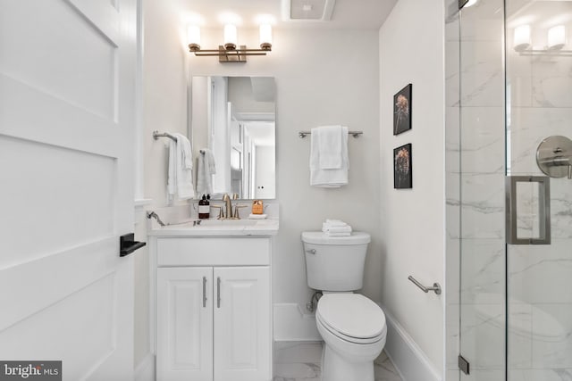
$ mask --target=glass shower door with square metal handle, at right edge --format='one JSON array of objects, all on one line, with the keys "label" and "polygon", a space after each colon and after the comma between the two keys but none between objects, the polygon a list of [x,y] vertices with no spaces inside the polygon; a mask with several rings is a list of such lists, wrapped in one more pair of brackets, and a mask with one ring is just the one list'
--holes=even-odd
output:
[{"label": "glass shower door with square metal handle, at right edge", "polygon": [[512,198],[519,242],[507,244],[510,381],[572,380],[570,31],[572,2],[506,0],[507,176],[550,186],[525,181]]}]

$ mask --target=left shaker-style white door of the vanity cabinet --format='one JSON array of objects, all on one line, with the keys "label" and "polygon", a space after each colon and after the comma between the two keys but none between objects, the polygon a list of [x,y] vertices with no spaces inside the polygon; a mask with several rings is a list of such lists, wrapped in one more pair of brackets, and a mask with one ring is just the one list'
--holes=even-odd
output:
[{"label": "left shaker-style white door of the vanity cabinet", "polygon": [[213,268],[156,273],[157,381],[213,379]]}]

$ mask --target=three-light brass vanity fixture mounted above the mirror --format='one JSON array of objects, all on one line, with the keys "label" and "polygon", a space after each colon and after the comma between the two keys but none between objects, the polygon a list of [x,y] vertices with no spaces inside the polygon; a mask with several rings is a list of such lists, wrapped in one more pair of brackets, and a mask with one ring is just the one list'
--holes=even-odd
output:
[{"label": "three-light brass vanity fixture mounted above the mirror", "polygon": [[247,62],[247,55],[266,55],[272,51],[272,26],[261,24],[259,32],[260,48],[248,49],[247,46],[239,46],[236,26],[226,24],[223,45],[218,46],[218,49],[201,49],[200,29],[198,26],[191,25],[188,29],[189,52],[199,57],[215,56],[218,57],[219,62]]}]

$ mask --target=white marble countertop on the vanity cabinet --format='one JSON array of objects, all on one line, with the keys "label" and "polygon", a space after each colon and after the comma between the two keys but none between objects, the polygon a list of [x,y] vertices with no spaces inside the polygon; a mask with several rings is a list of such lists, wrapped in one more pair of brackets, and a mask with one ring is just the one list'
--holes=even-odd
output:
[{"label": "white marble countertop on the vanity cabinet", "polygon": [[278,219],[193,219],[159,227],[153,224],[149,236],[275,236]]}]

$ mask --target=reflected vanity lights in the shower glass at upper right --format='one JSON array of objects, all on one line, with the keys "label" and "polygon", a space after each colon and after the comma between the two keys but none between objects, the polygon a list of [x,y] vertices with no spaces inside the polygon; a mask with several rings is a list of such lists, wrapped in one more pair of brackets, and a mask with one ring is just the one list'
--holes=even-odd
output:
[{"label": "reflected vanity lights in the shower glass at upper right", "polygon": [[566,27],[557,25],[548,29],[547,44],[543,49],[531,48],[530,25],[520,25],[514,29],[513,48],[520,55],[572,55],[572,50],[562,50],[566,46]]}]

